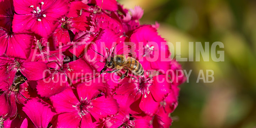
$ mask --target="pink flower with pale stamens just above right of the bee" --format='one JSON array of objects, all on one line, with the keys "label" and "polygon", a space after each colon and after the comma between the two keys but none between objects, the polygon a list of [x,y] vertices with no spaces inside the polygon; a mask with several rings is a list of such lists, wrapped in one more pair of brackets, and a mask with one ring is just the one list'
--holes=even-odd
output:
[{"label": "pink flower with pale stamens just above right of the bee", "polygon": [[[130,36],[130,41],[136,44],[137,50],[143,50],[143,52],[137,52],[137,58],[144,70],[162,69],[166,71],[169,69],[170,51],[168,45],[151,25],[137,28]],[[143,44],[139,42],[143,42]],[[149,44],[151,42],[152,44]]]}]

